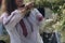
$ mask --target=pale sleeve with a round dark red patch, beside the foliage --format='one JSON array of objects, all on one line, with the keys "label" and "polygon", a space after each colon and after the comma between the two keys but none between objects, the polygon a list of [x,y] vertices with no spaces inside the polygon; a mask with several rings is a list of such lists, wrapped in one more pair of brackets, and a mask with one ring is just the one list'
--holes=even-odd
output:
[{"label": "pale sleeve with a round dark red patch, beside the foliage", "polygon": [[41,22],[43,20],[43,16],[37,9],[34,9],[34,13],[35,13],[37,26],[40,26]]}]

